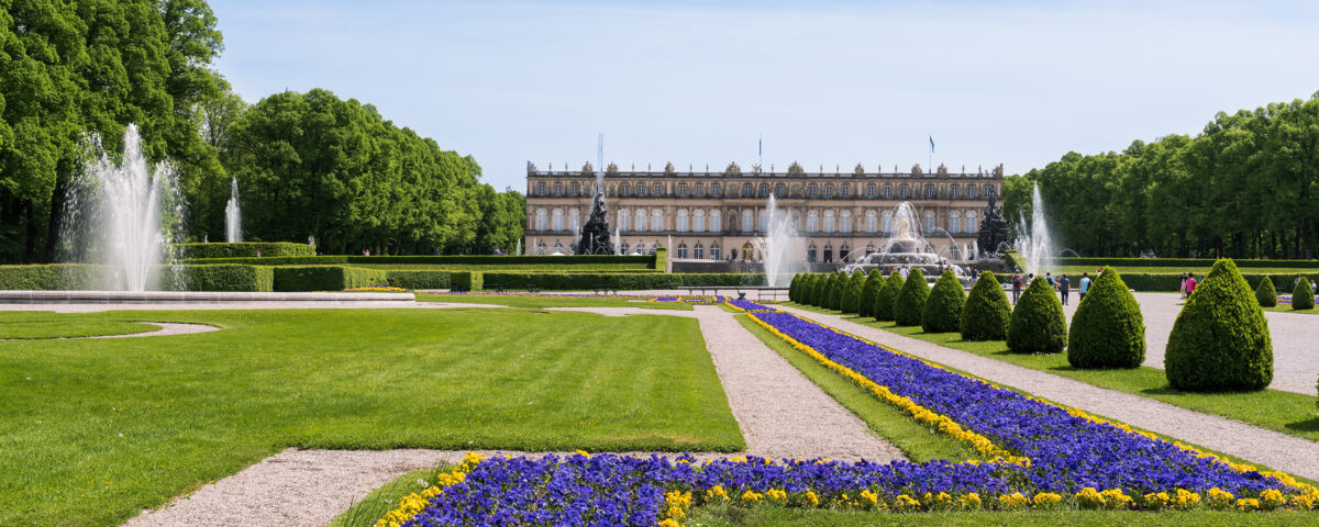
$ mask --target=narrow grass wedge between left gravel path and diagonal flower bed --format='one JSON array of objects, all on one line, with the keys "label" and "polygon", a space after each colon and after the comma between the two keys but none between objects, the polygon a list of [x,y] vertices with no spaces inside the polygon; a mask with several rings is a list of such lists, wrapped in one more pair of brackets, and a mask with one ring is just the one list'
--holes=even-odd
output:
[{"label": "narrow grass wedge between left gravel path and diagonal flower bed", "polygon": [[863,390],[838,373],[824,368],[814,358],[802,353],[756,324],[747,315],[739,315],[737,321],[760,337],[770,349],[797,366],[807,378],[834,397],[843,407],[856,414],[871,432],[893,443],[911,461],[930,460],[971,460],[980,456],[962,443],[935,432],[918,423],[898,408],[881,402],[873,394]]}]

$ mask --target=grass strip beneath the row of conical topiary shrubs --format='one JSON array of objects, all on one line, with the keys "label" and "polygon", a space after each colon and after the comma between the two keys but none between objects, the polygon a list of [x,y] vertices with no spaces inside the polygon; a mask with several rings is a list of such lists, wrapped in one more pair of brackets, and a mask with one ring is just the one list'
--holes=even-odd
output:
[{"label": "grass strip beneath the row of conical topiary shrubs", "polygon": [[[798,306],[815,312],[819,308]],[[852,321],[876,327],[888,332],[921,339],[927,343],[960,349],[992,357],[1018,366],[1049,372],[1099,387],[1148,397],[1169,404],[1241,420],[1257,427],[1319,441],[1319,414],[1315,412],[1315,397],[1281,390],[1253,393],[1192,394],[1169,387],[1163,370],[1141,366],[1132,370],[1083,370],[1067,364],[1064,353],[1058,354],[1017,354],[1009,353],[1004,341],[972,343],[962,340],[960,333],[926,333],[919,327],[897,327],[892,321],[869,321],[852,318]]]}]

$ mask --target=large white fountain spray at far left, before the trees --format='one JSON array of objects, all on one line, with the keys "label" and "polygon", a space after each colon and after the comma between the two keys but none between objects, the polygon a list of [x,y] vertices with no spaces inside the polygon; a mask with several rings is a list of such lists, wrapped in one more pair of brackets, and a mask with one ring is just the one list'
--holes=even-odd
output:
[{"label": "large white fountain spray at far left, before the trees", "polygon": [[[183,203],[169,162],[146,165],[136,125],[124,132],[116,163],[90,138],[92,159],[69,190],[61,244],[75,261],[100,264],[98,286],[117,291],[158,290],[171,242],[182,240]],[[178,281],[173,281],[178,283]]]}]

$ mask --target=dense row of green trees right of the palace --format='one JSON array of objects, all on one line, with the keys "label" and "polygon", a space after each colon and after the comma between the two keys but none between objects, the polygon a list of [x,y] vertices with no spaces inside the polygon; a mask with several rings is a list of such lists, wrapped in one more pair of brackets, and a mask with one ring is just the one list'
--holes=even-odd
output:
[{"label": "dense row of green trees right of the palace", "polygon": [[1039,184],[1060,246],[1083,256],[1319,256],[1319,94],[1220,112],[1195,136],[1062,159],[1004,183],[1008,217]]}]

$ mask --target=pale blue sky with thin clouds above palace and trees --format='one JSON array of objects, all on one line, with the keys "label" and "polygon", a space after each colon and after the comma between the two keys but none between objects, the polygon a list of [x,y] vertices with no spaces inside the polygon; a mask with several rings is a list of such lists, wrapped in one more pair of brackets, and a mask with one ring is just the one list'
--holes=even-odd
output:
[{"label": "pale blue sky with thin clouds above palace and trees", "polygon": [[211,0],[249,103],[321,87],[497,188],[605,159],[1004,163],[1199,132],[1319,91],[1319,3]]}]

